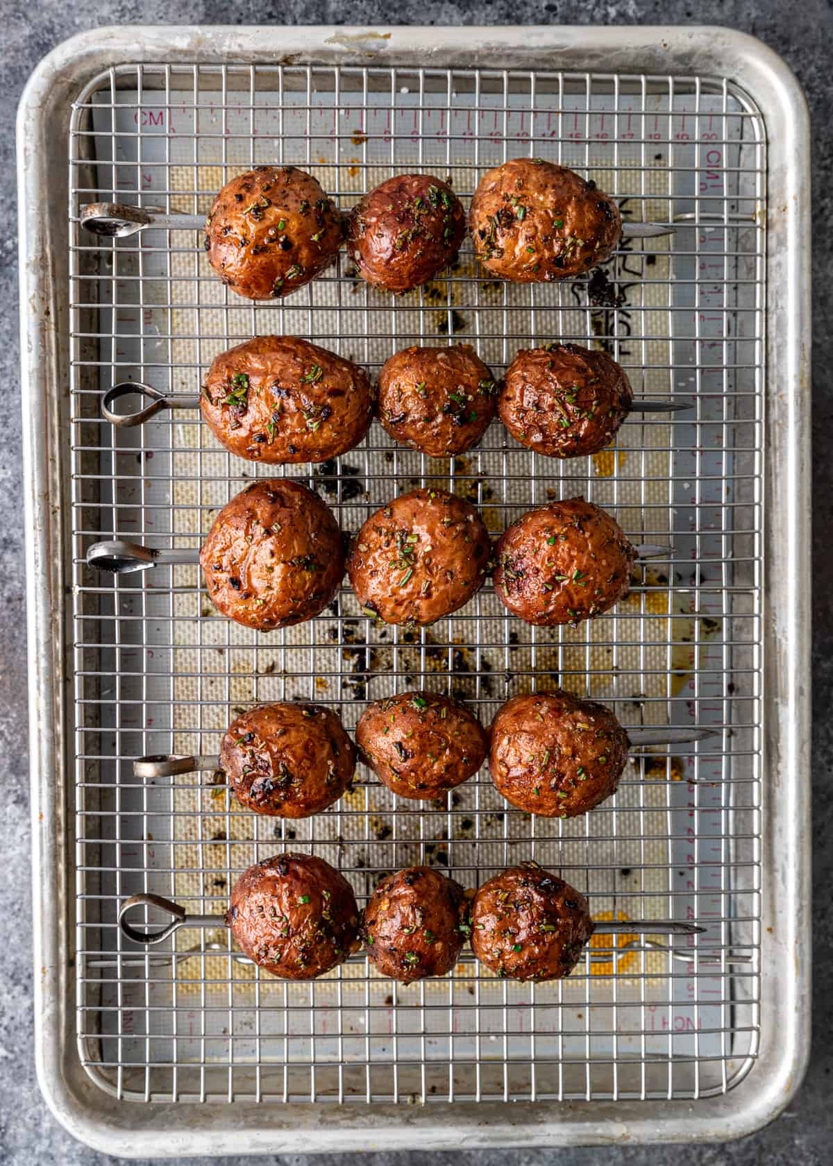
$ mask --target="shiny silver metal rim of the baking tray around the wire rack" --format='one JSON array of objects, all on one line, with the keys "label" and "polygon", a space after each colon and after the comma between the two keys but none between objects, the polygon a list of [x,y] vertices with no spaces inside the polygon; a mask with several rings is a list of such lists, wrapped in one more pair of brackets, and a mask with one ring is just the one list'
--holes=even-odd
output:
[{"label": "shiny silver metal rim of the baking tray around the wire rack", "polygon": [[[530,45],[534,44],[533,48]],[[72,1030],[71,673],[66,618],[68,466],[65,261],[70,103],[96,73],[142,62],[566,66],[603,73],[730,77],[758,105],[769,139],[764,546],[763,926],[758,1062],[728,1094],[696,1102],[454,1103],[356,1107],[254,1103],[136,1107],[84,1073]],[[810,1045],[810,166],[808,119],[788,66],[724,28],[164,28],[98,29],[58,45],[35,70],[18,121],[21,374],[27,529],[29,714],[35,921],[35,1056],[47,1103],[77,1138],[111,1154],[473,1149],[724,1140],[761,1128],[790,1101]],[[772,386],[778,386],[777,391]],[[415,1139],[419,1139],[418,1142]]]}]

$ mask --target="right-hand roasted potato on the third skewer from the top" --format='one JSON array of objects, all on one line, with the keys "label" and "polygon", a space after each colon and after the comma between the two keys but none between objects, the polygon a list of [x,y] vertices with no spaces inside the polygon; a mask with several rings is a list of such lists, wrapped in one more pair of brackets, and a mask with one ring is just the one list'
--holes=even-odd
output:
[{"label": "right-hand roasted potato on the third skewer from the top", "polygon": [[630,588],[636,550],[600,506],[568,498],[527,511],[495,548],[495,592],[527,624],[576,625]]}]

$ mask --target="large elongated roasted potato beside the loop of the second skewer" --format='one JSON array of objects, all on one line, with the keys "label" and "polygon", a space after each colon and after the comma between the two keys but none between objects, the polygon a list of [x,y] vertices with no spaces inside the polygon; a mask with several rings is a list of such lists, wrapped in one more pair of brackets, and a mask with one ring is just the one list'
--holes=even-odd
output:
[{"label": "large elongated roasted potato beside the loop of the second skewer", "polygon": [[200,396],[211,433],[268,465],[326,462],[362,441],[373,391],[352,360],[295,336],[256,336],[215,357]]}]

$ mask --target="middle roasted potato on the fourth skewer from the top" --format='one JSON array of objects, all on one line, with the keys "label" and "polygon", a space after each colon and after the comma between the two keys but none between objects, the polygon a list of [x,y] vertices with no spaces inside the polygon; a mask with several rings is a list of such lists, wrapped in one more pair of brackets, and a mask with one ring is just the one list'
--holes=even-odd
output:
[{"label": "middle roasted potato on the fourth skewer from the top", "polygon": [[489,747],[483,725],[457,701],[400,693],[368,705],[356,726],[362,757],[400,798],[442,798],[477,773]]}]

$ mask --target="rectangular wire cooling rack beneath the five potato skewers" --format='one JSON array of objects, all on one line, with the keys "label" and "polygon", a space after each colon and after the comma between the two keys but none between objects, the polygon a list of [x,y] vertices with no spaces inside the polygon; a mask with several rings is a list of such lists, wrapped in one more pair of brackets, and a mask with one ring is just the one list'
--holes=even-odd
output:
[{"label": "rectangular wire cooling rack beneath the five potato skewers", "polygon": [[[231,296],[197,232],[104,240],[83,204],[202,212],[235,173],[310,169],[346,208],[396,171],[477,174],[517,155],[595,177],[635,219],[677,223],[601,273],[512,287],[467,243],[440,280],[393,298],[342,255],[286,301]],[[88,84],[70,124],[77,1035],[96,1083],[135,1101],[432,1102],[688,1098],[726,1093],[754,1062],[760,992],[763,121],[729,80],[490,69],[135,65]],[[473,499],[494,534],[578,493],[637,541],[671,542],[631,597],[578,630],[510,619],[488,585],[422,632],[374,627],[343,591],[299,628],[258,635],[217,616],[195,568],[98,575],[113,534],[195,547],[217,508],[265,472],[220,450],[196,414],[141,429],[100,419],[102,394],[141,379],[197,391],[212,357],[253,333],[296,333],[370,370],[411,343],[466,342],[499,374],[551,339],[606,346],[639,395],[690,398],[629,421],[615,448],[554,463],[497,423],[448,463],[394,447],[378,424],[323,466],[287,469],[343,528],[411,485]],[[310,472],[312,471],[312,472]],[[609,703],[626,726],[707,724],[693,752],[634,759],[617,795],[569,821],[508,810],[483,772],[442,802],[397,800],[368,772],[316,819],[259,820],[210,774],[142,784],[147,753],[216,752],[254,702],[306,698],[352,729],[405,687],[450,691],[488,723],[533,688]],[[553,984],[496,979],[469,960],[410,988],[354,958],[287,984],[240,962],[226,932],[146,953],[116,926],[153,891],[223,911],[250,863],[314,851],[359,904],[415,862],[468,886],[534,857],[607,918],[696,920],[673,953],[620,937]],[[594,941],[595,943],[596,941]],[[659,941],[657,941],[658,943]],[[626,946],[623,946],[626,944]]]}]

